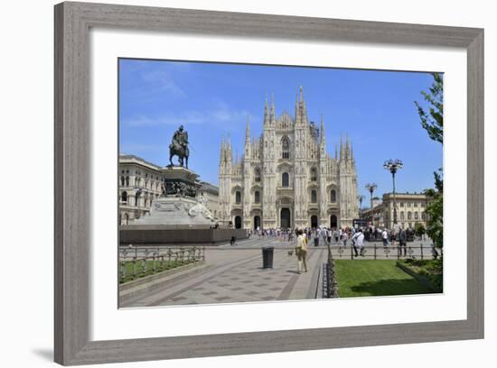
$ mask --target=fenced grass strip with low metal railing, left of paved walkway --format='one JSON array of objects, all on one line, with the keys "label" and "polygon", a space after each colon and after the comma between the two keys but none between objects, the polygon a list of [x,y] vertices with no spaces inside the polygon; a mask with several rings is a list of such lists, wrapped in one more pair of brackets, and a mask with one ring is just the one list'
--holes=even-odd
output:
[{"label": "fenced grass strip with low metal railing, left of paved walkway", "polygon": [[119,246],[119,282],[205,260],[204,246]]}]

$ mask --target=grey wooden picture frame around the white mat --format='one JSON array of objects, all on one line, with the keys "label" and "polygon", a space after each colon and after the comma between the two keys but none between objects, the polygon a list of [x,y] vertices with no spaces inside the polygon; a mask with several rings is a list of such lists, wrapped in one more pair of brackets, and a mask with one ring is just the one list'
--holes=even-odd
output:
[{"label": "grey wooden picture frame around the white mat", "polygon": [[[62,3],[55,5],[54,11],[55,362],[115,363],[483,338],[482,29],[85,3]],[[467,51],[467,319],[90,341],[91,27],[464,48]]]}]

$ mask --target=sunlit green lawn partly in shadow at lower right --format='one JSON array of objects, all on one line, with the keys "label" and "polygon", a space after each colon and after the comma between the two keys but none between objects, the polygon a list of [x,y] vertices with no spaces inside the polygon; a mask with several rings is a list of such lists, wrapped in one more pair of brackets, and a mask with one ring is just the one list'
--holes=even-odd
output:
[{"label": "sunlit green lawn partly in shadow at lower right", "polygon": [[335,260],[341,298],[433,293],[395,260]]}]

